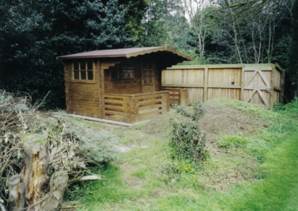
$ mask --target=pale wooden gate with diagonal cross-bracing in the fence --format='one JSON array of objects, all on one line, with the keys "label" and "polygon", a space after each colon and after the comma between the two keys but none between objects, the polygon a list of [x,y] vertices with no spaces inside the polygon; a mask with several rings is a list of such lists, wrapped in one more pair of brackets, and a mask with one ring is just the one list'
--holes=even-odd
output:
[{"label": "pale wooden gate with diagonal cross-bracing in the fence", "polygon": [[256,68],[243,68],[244,96],[243,101],[261,105],[269,109],[271,71]]}]

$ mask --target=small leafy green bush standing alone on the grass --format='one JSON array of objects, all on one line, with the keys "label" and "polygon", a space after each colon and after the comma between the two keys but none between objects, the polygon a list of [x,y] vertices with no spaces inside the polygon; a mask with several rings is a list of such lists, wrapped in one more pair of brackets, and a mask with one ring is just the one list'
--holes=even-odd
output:
[{"label": "small leafy green bush standing alone on the grass", "polygon": [[204,114],[202,104],[199,101],[195,102],[192,110],[177,107],[177,112],[186,117],[186,120],[171,122],[173,127],[170,139],[171,157],[199,164],[205,157],[206,144],[205,134],[200,131],[198,125],[198,120]]}]

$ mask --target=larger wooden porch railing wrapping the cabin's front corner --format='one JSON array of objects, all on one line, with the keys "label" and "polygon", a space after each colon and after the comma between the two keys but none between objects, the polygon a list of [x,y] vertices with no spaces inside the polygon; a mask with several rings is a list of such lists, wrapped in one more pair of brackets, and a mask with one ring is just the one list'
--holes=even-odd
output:
[{"label": "larger wooden porch railing wrapping the cabin's front corner", "polygon": [[165,114],[169,108],[169,91],[104,95],[104,119],[134,123]]}]

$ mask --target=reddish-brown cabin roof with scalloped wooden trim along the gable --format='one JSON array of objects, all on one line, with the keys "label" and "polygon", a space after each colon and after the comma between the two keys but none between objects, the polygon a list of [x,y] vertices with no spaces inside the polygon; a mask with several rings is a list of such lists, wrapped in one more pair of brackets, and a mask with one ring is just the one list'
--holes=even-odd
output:
[{"label": "reddish-brown cabin roof with scalloped wooden trim along the gable", "polygon": [[119,58],[119,57],[137,57],[145,54],[152,54],[154,52],[166,52],[171,53],[172,56],[176,56],[183,60],[193,60],[180,52],[168,48],[167,46],[159,47],[135,47],[135,48],[121,48],[121,49],[107,49],[107,50],[93,50],[88,52],[80,52],[78,54],[71,54],[66,56],[57,57],[57,59],[83,59],[83,58]]}]

